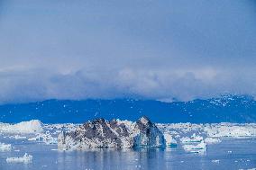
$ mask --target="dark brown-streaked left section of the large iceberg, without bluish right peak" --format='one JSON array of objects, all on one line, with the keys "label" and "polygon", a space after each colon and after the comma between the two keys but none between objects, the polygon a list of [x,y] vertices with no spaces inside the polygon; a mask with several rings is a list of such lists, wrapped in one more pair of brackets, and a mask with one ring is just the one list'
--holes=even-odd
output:
[{"label": "dark brown-streaked left section of the large iceberg, without bluish right peak", "polygon": [[58,137],[59,149],[132,148],[133,140],[123,123],[97,119],[88,121],[75,131],[62,132]]}]

